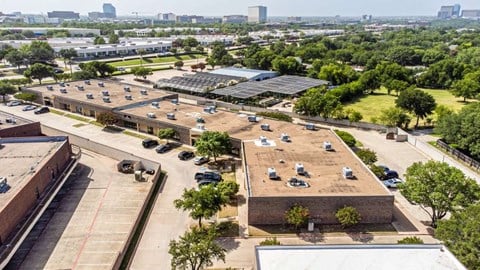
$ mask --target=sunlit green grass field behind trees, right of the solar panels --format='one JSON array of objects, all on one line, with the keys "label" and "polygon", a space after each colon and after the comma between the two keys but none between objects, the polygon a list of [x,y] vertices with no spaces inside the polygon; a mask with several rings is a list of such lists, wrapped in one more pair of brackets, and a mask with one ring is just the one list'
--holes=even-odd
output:
[{"label": "sunlit green grass field behind trees, right of the solar panels", "polygon": [[[463,98],[454,97],[447,90],[437,89],[422,89],[423,91],[432,95],[437,101],[438,105],[445,105],[452,108],[455,111],[459,111],[463,106],[468,103],[463,102]],[[346,104],[345,109],[353,109],[360,112],[363,115],[363,121],[371,121],[372,117],[378,117],[380,112],[384,109],[395,106],[395,99],[397,97],[387,94],[386,89],[375,91],[374,94],[365,95],[358,98],[354,102]],[[472,100],[469,100],[472,102]]]}]

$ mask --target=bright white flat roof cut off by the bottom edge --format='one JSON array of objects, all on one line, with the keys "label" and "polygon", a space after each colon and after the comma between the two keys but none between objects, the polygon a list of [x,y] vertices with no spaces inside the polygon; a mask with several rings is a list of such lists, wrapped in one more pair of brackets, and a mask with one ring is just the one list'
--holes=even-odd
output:
[{"label": "bright white flat roof cut off by the bottom edge", "polygon": [[257,246],[257,270],[466,270],[442,245]]}]

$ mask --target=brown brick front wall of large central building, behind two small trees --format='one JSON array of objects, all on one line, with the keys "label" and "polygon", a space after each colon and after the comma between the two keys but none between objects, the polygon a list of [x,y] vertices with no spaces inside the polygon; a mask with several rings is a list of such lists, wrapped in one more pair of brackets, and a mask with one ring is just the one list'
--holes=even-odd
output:
[{"label": "brown brick front wall of large central building, behind two small trees", "polygon": [[250,197],[248,223],[252,225],[284,224],[285,212],[294,204],[307,207],[310,217],[320,224],[337,224],[335,212],[343,206],[355,207],[361,223],[391,223],[392,196],[318,196],[318,197]]}]

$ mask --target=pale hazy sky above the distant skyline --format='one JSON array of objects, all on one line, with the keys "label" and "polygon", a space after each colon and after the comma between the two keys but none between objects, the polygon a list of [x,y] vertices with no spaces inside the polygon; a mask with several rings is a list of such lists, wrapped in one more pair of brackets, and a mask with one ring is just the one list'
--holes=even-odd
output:
[{"label": "pale hazy sky above the distant skyline", "polygon": [[[479,0],[108,0],[117,15],[247,15],[247,7],[267,6],[268,16],[435,16],[441,5],[459,3],[462,9],[480,9]],[[52,10],[72,10],[87,15],[101,11],[105,0],[0,0],[0,11],[39,14]]]}]

